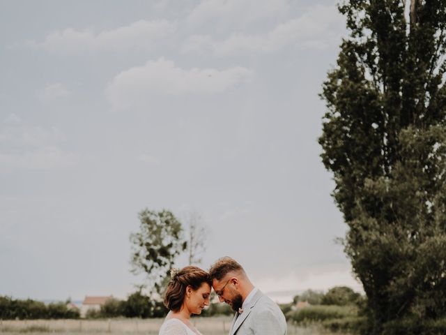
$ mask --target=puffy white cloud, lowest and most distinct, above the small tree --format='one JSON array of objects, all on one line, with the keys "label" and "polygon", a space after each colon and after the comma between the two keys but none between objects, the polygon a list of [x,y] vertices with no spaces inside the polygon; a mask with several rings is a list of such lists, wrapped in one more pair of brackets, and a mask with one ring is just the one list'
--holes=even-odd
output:
[{"label": "puffy white cloud, lowest and most distinct, above the small tree", "polygon": [[109,83],[106,95],[115,108],[126,108],[150,104],[153,96],[222,93],[251,76],[251,70],[240,66],[225,70],[183,69],[174,61],[158,59],[116,75]]}]

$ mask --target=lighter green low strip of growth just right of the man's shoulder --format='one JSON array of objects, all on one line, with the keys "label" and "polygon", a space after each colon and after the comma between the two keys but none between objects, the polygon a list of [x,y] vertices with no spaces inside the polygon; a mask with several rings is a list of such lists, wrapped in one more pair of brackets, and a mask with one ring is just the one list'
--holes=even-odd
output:
[{"label": "lighter green low strip of growth just right of the man's shoulder", "polygon": [[307,325],[324,320],[355,317],[357,316],[357,308],[355,306],[307,306],[291,311],[286,316],[287,319],[300,325]]}]

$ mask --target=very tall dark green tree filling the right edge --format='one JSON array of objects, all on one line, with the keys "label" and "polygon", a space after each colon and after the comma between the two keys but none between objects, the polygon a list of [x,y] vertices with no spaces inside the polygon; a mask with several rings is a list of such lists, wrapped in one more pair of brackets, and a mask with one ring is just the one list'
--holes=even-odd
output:
[{"label": "very tall dark green tree filling the right edge", "polygon": [[319,143],[369,333],[446,314],[446,0],[346,0]]}]

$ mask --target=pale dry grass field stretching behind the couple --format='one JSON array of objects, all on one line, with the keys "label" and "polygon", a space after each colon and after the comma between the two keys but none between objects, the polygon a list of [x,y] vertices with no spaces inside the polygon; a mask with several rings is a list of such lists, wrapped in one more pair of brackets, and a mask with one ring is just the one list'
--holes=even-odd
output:
[{"label": "pale dry grass field stretching behind the couple", "polygon": [[[227,335],[231,326],[230,317],[192,318],[195,327],[203,335]],[[111,320],[0,320],[0,333],[3,335],[107,335],[132,334],[155,335],[162,319],[111,319]],[[300,328],[289,325],[288,334],[325,335],[317,327]],[[341,335],[336,333],[337,335]]]}]

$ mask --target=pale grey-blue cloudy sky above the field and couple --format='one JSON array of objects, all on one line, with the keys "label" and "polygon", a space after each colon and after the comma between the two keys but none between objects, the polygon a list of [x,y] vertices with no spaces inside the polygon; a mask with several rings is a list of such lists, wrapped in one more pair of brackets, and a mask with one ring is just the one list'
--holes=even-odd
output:
[{"label": "pale grey-blue cloudy sky above the field and couple", "polygon": [[271,295],[361,290],[317,142],[345,35],[328,0],[0,0],[0,295],[125,298],[145,208]]}]

